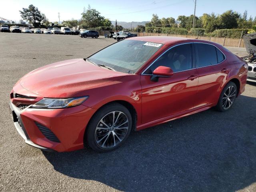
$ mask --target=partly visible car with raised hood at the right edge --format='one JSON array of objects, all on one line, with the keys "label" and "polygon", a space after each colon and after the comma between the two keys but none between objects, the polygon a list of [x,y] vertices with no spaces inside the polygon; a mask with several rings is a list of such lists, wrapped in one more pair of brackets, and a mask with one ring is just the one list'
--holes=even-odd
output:
[{"label": "partly visible car with raised hood at the right edge", "polygon": [[247,81],[256,82],[256,32],[243,36],[248,56],[243,57],[248,63]]}]

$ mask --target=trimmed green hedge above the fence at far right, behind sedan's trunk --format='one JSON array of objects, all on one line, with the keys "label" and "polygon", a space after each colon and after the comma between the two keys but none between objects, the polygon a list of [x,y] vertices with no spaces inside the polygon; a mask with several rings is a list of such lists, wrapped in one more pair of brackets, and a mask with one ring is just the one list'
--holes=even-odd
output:
[{"label": "trimmed green hedge above the fence at far right, behind sedan's trunk", "polygon": [[214,37],[227,37],[227,38],[240,38],[241,34],[245,35],[248,33],[249,29],[217,29],[212,32]]}]

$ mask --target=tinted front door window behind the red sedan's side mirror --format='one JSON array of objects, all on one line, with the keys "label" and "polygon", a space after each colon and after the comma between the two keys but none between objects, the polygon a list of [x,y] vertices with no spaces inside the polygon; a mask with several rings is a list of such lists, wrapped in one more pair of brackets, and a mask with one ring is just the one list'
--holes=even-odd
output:
[{"label": "tinted front door window behind the red sedan's side mirror", "polygon": [[144,74],[153,74],[159,66],[172,68],[173,72],[179,72],[192,68],[192,44],[182,44],[171,48],[156,60]]}]

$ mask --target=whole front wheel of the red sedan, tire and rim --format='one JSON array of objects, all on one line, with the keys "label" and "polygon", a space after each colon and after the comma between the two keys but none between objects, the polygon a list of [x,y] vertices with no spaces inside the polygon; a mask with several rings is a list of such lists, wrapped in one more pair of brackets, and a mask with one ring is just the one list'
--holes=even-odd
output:
[{"label": "whole front wheel of the red sedan, tire and rim", "polygon": [[85,139],[98,152],[108,152],[121,146],[132,130],[132,116],[121,104],[108,104],[90,120]]}]

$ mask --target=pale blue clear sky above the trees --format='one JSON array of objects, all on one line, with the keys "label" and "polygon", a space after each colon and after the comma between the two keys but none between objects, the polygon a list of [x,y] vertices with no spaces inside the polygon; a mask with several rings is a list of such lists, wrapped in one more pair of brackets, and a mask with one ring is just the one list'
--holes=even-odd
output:
[{"label": "pale blue clear sky above the trees", "polygon": [[[80,19],[84,7],[90,4],[102,16],[110,20],[125,22],[150,21],[152,14],[159,18],[194,14],[194,0],[1,0],[1,4],[10,5],[10,8],[1,8],[0,17],[18,21],[21,19],[19,10],[33,4],[46,15],[50,22],[69,19]],[[247,10],[248,17],[256,16],[256,0],[197,0],[196,16],[203,13],[222,14],[226,10],[243,13]]]}]

